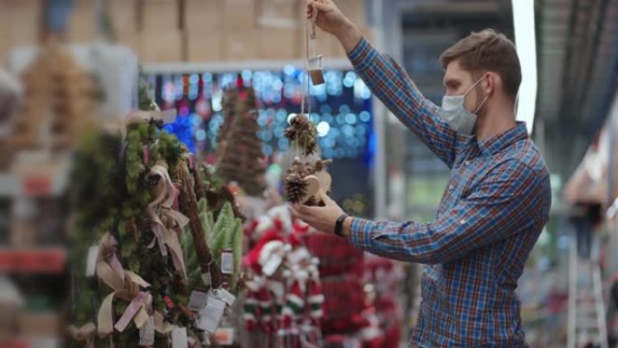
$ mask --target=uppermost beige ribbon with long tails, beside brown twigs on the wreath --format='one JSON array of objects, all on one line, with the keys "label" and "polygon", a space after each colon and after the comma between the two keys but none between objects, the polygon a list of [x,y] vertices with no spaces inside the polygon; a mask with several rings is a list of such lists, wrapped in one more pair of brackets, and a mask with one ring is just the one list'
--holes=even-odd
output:
[{"label": "uppermost beige ribbon with long tails, beside brown twigs on the wreath", "polygon": [[[154,242],[158,243],[163,256],[167,255],[169,249],[173,266],[183,277],[183,283],[187,284],[187,272],[184,266],[183,249],[181,248],[178,233],[189,223],[189,218],[181,212],[174,211],[172,208],[175,198],[175,188],[167,173],[164,165],[154,165],[150,169],[150,174],[159,175],[161,181],[155,188],[155,200],[148,204],[146,212],[153,222],[152,230],[155,233]],[[160,212],[157,214],[157,208]],[[178,232],[178,233],[177,233]],[[151,244],[151,247],[154,244]],[[167,248],[166,248],[167,247]]]}]

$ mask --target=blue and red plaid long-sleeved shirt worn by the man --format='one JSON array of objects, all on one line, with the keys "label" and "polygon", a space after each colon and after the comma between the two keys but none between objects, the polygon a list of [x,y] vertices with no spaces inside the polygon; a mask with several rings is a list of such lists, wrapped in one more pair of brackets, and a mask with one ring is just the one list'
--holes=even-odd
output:
[{"label": "blue and red plaid long-sleeved shirt worn by the man", "polygon": [[366,40],[349,58],[389,109],[451,169],[436,220],[353,219],[351,243],[426,264],[411,347],[527,347],[518,278],[548,221],[549,174],[524,123],[478,140],[457,135],[406,71]]}]

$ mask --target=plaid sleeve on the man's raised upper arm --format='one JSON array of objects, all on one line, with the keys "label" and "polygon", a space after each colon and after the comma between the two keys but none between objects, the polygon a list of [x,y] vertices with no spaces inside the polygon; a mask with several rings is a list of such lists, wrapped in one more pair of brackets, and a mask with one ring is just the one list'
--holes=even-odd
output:
[{"label": "plaid sleeve on the man's raised upper arm", "polygon": [[441,118],[442,108],[423,96],[396,61],[380,54],[364,38],[348,58],[371,92],[451,168],[456,133]]}]

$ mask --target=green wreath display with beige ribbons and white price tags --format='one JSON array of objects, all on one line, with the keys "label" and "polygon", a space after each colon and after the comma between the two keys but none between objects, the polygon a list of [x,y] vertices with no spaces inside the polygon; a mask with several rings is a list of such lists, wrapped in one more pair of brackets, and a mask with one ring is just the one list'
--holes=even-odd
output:
[{"label": "green wreath display with beige ribbons and white price tags", "polygon": [[126,127],[91,130],[80,144],[70,189],[74,346],[210,345],[236,300],[241,217],[222,181],[161,130],[173,116],[136,111]]}]

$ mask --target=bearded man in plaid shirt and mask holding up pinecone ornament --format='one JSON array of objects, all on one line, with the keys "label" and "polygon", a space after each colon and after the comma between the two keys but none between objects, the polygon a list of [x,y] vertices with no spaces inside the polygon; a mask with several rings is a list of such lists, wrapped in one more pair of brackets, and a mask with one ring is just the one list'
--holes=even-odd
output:
[{"label": "bearded man in plaid shirt and mask holding up pinecone ornament", "polygon": [[324,207],[290,206],[317,230],[360,249],[426,264],[410,346],[526,347],[518,278],[548,221],[549,174],[526,126],[515,121],[520,62],[504,35],[472,33],[440,57],[442,108],[380,55],[332,3],[307,0],[307,16],[335,35],[372,92],[451,169],[436,220],[366,221]]}]

